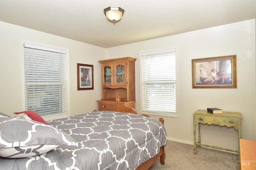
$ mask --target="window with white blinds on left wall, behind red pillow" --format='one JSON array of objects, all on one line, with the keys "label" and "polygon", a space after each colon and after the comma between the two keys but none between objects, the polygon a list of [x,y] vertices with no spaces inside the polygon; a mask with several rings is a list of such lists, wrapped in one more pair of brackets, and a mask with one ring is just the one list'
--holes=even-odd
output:
[{"label": "window with white blinds on left wall, behind red pillow", "polygon": [[67,50],[21,44],[22,110],[46,118],[69,115]]}]

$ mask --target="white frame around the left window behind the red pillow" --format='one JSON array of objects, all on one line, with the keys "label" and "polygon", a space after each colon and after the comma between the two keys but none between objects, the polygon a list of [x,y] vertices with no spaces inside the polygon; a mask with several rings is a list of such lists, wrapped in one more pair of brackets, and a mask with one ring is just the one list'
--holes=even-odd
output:
[{"label": "white frame around the left window behind the red pillow", "polygon": [[30,44],[35,46],[41,46],[44,49],[54,49],[56,51],[66,51],[66,98],[67,98],[67,112],[66,113],[59,113],[54,115],[45,115],[42,116],[45,121],[53,120],[53,119],[60,119],[64,117],[70,116],[70,79],[69,79],[69,50],[62,47],[56,47],[53,45],[46,45],[26,40],[20,40],[20,74],[21,74],[21,107],[22,111],[25,110],[25,75],[24,75],[24,44]]}]

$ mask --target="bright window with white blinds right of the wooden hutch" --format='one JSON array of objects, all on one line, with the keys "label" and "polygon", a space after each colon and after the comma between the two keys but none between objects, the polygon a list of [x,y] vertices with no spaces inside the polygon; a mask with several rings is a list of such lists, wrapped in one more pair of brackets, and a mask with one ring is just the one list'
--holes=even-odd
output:
[{"label": "bright window with white blinds right of the wooden hutch", "polygon": [[141,113],[177,116],[176,48],[140,52]]}]

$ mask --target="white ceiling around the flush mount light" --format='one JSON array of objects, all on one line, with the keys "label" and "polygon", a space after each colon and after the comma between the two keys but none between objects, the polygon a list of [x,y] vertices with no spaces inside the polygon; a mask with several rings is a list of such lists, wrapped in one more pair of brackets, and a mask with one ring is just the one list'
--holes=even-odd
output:
[{"label": "white ceiling around the flush mount light", "polygon": [[[125,10],[110,23],[109,6]],[[256,18],[256,0],[0,0],[0,21],[109,48]]]}]

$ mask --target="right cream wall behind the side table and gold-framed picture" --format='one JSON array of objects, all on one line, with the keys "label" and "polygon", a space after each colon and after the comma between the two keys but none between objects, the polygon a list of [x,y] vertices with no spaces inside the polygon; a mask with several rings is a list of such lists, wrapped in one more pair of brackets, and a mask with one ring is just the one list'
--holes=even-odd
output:
[{"label": "right cream wall behind the side table and gold-framed picture", "polygon": [[[136,110],[140,112],[139,52],[178,46],[178,114],[164,117],[168,138],[192,144],[194,141],[192,113],[197,109],[218,107],[224,111],[241,112],[242,138],[256,141],[255,92],[255,20],[242,21],[198,31],[151,39],[107,49],[107,58],[134,57],[136,60]],[[237,55],[237,88],[192,89],[191,59]],[[157,118],[156,116],[152,116]],[[202,125],[202,143],[238,149],[238,133],[231,128]]]}]

